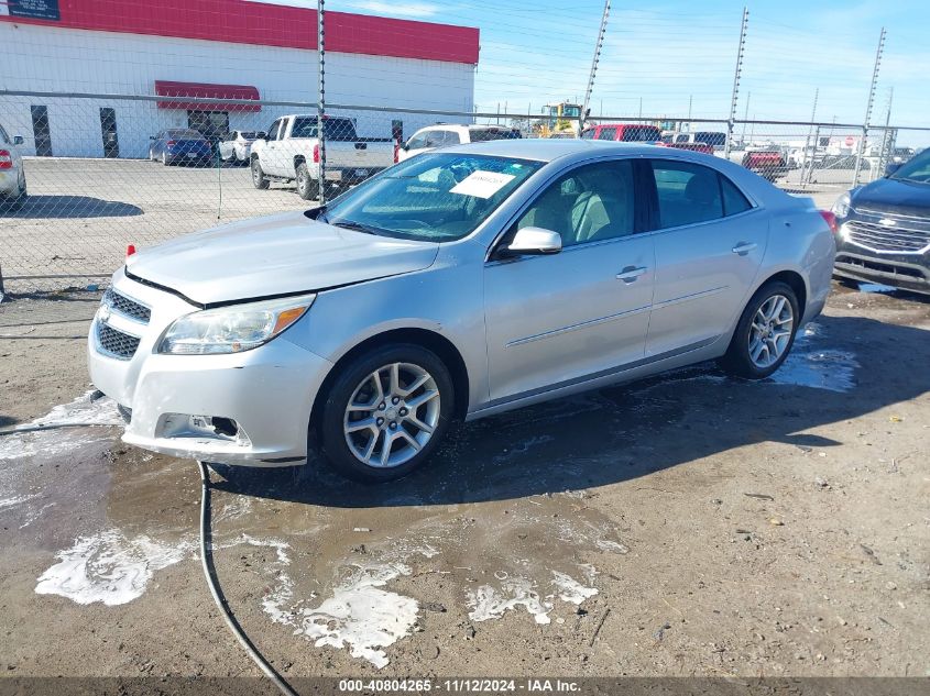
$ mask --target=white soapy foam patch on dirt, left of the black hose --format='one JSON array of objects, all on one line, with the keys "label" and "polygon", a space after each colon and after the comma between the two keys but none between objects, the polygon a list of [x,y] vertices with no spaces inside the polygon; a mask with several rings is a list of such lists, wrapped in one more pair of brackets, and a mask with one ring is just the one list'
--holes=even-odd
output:
[{"label": "white soapy foam patch on dirt, left of the black hose", "polygon": [[167,544],[146,535],[127,538],[110,529],[78,537],[70,549],[56,554],[58,562],[35,585],[39,595],[59,595],[81,605],[96,601],[108,607],[138,599],[155,571],[180,562],[193,544]]}]

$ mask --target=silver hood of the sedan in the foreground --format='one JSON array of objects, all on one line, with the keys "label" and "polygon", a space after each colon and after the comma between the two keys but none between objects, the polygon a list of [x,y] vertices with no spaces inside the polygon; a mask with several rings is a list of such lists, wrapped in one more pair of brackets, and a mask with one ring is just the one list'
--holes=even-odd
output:
[{"label": "silver hood of the sedan in the foreground", "polygon": [[127,274],[209,306],[413,273],[429,267],[438,250],[288,212],[142,250],[127,261]]}]

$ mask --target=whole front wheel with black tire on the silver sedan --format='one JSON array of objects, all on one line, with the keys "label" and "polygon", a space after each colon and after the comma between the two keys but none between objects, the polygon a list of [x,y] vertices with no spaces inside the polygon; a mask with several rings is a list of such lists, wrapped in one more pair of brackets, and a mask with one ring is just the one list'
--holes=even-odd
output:
[{"label": "whole front wheel with black tire on the silver sedan", "polygon": [[326,395],[318,424],[322,453],[354,480],[396,480],[422,466],[455,410],[452,378],[431,351],[413,344],[353,358]]}]

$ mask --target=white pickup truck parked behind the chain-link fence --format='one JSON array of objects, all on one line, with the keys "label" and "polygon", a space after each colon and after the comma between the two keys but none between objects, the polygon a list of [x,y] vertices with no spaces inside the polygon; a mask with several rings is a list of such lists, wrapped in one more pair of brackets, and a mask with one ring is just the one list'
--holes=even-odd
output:
[{"label": "white pickup truck parked behind the chain-link fence", "polygon": [[[359,137],[352,119],[326,117],[326,181],[349,186],[363,181],[396,162],[390,137]],[[275,181],[296,181],[305,200],[320,191],[320,153],[316,114],[292,114],[276,119],[267,136],[252,144],[252,184],[267,188]]]}]

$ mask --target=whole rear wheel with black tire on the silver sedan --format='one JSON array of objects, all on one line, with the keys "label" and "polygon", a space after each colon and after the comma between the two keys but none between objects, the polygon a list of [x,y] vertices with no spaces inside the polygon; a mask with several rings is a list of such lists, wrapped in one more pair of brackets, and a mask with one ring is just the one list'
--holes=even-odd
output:
[{"label": "whole rear wheel with black tire on the silver sedan", "polygon": [[745,379],[769,377],[788,357],[800,320],[798,297],[791,286],[767,283],[743,310],[720,366]]}]

